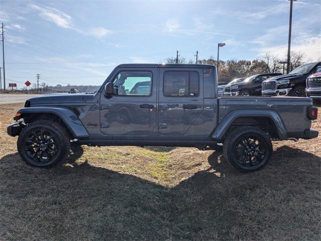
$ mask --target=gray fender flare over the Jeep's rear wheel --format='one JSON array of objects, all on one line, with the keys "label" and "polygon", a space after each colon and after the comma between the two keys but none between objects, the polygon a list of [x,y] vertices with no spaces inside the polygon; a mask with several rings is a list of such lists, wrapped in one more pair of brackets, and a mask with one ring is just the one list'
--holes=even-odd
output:
[{"label": "gray fender flare over the Jeep's rear wheel", "polygon": [[229,112],[214,129],[211,137],[214,140],[221,141],[235,119],[239,117],[269,117],[277,128],[280,140],[287,139],[287,132],[280,115],[274,110],[268,109],[238,109]]}]

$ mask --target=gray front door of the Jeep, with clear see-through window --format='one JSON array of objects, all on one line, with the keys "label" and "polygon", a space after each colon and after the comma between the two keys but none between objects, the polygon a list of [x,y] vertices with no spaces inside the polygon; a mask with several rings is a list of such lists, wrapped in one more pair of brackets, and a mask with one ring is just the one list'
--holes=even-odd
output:
[{"label": "gray front door of the Jeep, with clear see-through window", "polygon": [[118,94],[100,95],[100,130],[113,139],[147,136],[156,125],[157,68],[119,69],[111,78]]}]

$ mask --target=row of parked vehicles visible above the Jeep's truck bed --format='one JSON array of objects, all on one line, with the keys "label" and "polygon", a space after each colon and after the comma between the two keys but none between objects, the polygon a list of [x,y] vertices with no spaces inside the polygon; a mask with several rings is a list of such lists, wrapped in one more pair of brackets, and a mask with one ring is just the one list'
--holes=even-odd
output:
[{"label": "row of parked vehicles visible above the Jeep's truck bed", "polygon": [[301,65],[289,74],[263,73],[218,87],[219,96],[309,96],[321,99],[321,62]]}]

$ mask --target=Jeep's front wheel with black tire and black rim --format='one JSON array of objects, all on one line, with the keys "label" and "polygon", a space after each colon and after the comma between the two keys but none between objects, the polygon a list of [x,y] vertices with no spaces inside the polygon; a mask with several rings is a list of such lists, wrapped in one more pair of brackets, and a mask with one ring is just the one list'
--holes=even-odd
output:
[{"label": "Jeep's front wheel with black tire and black rim", "polygon": [[67,159],[70,137],[58,123],[36,121],[21,131],[17,148],[28,165],[48,168]]}]

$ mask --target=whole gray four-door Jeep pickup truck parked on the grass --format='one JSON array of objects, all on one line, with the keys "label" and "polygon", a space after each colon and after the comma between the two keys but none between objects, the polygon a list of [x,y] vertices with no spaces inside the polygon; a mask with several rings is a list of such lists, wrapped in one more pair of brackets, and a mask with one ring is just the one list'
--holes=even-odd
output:
[{"label": "whole gray four-door Jeep pickup truck parked on the grass", "polygon": [[213,65],[122,64],[94,94],[31,98],[8,127],[29,165],[65,160],[71,145],[180,146],[216,150],[232,167],[264,167],[271,140],[311,139],[310,98],[217,96]]}]

